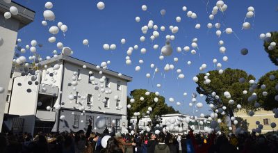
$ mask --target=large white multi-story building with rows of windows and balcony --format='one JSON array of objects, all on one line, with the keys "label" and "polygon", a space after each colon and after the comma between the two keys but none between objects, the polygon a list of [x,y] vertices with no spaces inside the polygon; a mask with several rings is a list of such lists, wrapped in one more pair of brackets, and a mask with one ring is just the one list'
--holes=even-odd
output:
[{"label": "large white multi-story building with rows of windows and balcony", "polygon": [[13,130],[78,131],[88,127],[89,119],[95,129],[97,117],[106,118],[107,127],[115,120],[117,131],[126,129],[131,77],[63,55],[44,60],[39,67],[37,75],[26,67],[13,69],[5,110],[19,115],[6,122]]}]

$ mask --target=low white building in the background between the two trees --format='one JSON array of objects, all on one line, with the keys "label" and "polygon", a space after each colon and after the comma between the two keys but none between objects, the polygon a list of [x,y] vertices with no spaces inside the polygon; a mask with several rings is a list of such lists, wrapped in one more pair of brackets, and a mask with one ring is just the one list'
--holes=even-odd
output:
[{"label": "low white building in the background between the two trees", "polygon": [[[171,124],[170,120],[175,120],[174,127],[181,127],[182,131],[175,131],[174,129],[171,131],[171,133],[174,134],[181,134],[183,132],[188,131],[188,123],[186,122],[186,117],[190,118],[190,115],[181,114],[181,113],[173,113],[173,114],[166,114],[161,115],[161,124],[159,124],[160,127],[166,127]],[[199,120],[205,120],[204,118],[198,118],[197,121],[190,120],[189,125],[194,126],[195,132],[204,132],[204,127],[206,124],[200,125]],[[133,126],[136,126],[136,117],[131,118],[131,123],[133,123]],[[209,123],[209,122],[208,122]],[[139,129],[145,130],[147,126],[152,125],[152,120],[149,118],[149,115],[145,116],[141,120],[139,120]]]}]

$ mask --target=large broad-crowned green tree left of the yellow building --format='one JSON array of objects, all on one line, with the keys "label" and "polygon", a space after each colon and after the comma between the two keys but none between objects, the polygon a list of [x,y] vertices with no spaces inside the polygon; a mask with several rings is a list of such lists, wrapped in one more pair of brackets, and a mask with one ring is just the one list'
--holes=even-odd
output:
[{"label": "large broad-crowned green tree left of the yellow building", "polygon": [[[226,115],[229,115],[229,118],[234,116],[234,112],[238,111],[236,108],[237,104],[242,106],[242,109],[247,111],[254,111],[254,102],[248,102],[247,99],[252,93],[247,93],[243,95],[243,90],[248,90],[250,88],[251,79],[255,80],[252,75],[248,75],[243,70],[230,69],[227,68],[224,70],[223,74],[219,74],[218,70],[213,70],[208,72],[210,75],[208,79],[211,80],[211,83],[204,84],[204,77],[206,74],[200,73],[197,75],[199,81],[197,81],[197,92],[206,96],[206,103],[213,104],[216,108],[222,108],[226,106]],[[240,79],[244,78],[245,81],[240,83]],[[231,94],[231,99],[234,100],[234,104],[229,104],[229,100],[224,96],[224,92],[228,91]],[[219,96],[219,99],[216,99],[212,92],[216,92]]]}]

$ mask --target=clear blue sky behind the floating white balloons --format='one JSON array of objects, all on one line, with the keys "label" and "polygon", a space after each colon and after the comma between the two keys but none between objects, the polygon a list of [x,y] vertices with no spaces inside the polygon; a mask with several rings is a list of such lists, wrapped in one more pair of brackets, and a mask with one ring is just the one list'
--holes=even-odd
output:
[{"label": "clear blue sky behind the floating white balloons", "polygon": [[[193,108],[188,106],[191,101],[191,94],[195,92],[196,84],[193,82],[193,77],[197,75],[199,67],[206,63],[208,70],[215,70],[213,58],[218,59],[218,63],[222,63],[222,69],[227,67],[238,68],[245,70],[249,74],[253,74],[256,79],[259,79],[265,72],[277,70],[273,65],[268,55],[263,50],[263,42],[259,39],[261,33],[269,31],[277,31],[278,27],[278,1],[252,1],[252,0],[234,0],[225,1],[228,9],[215,15],[215,19],[210,20],[210,15],[216,1],[212,0],[196,0],[196,1],[181,1],[181,0],[163,0],[163,1],[146,1],[146,0],[104,0],[106,4],[104,10],[97,9],[97,2],[92,0],[79,1],[51,1],[54,3],[54,11],[56,15],[55,22],[48,22],[48,26],[42,26],[44,20],[43,11],[44,3],[47,1],[40,0],[16,0],[17,3],[27,6],[35,10],[35,21],[19,31],[18,38],[22,39],[19,45],[30,45],[31,40],[37,40],[44,46],[39,49],[38,53],[44,56],[53,56],[52,51],[57,49],[56,43],[50,44],[48,38],[51,34],[48,29],[52,25],[57,25],[58,22],[63,22],[68,27],[65,36],[60,31],[56,35],[56,42],[63,42],[67,47],[74,50],[74,57],[83,61],[100,65],[102,61],[111,61],[109,69],[127,74],[133,77],[133,81],[129,83],[129,91],[136,88],[146,88],[150,91],[158,91],[166,99],[174,97],[175,102],[183,102],[181,106],[170,103],[181,113],[197,115],[199,112],[208,113],[208,106],[204,106],[196,113]],[[142,11],[141,6],[146,5],[147,11]],[[186,6],[188,10],[197,14],[197,19],[191,19],[183,12],[182,7]],[[255,17],[247,19],[246,22],[252,24],[249,30],[242,30],[242,24],[247,13],[247,8],[253,6],[255,9]],[[166,10],[166,15],[161,16],[160,11]],[[208,13],[207,13],[207,11]],[[135,18],[140,17],[141,21],[136,22]],[[176,22],[176,17],[181,17],[181,22]],[[153,29],[149,29],[147,34],[143,34],[141,27],[148,24],[152,19],[154,24],[165,26],[166,31],[160,33],[159,38],[152,41],[149,37],[152,35]],[[222,35],[218,38],[215,35],[215,27],[208,29],[206,24],[211,22],[221,24],[220,31]],[[195,29],[195,24],[201,24],[200,29]],[[171,56],[165,57],[163,61],[158,59],[160,50],[165,45],[165,35],[172,35],[169,26],[179,26],[179,32],[174,34],[175,40],[171,42],[174,52]],[[230,27],[234,33],[227,35],[223,31]],[[145,42],[140,42],[140,37],[144,35]],[[126,39],[126,44],[121,45],[120,40]],[[190,52],[183,51],[183,54],[176,51],[177,47],[190,46],[193,38],[198,39],[197,54],[192,55]],[[89,47],[82,44],[83,39],[89,40]],[[227,48],[225,54],[220,54],[218,41],[224,41],[224,47]],[[103,45],[117,45],[114,51],[105,51]],[[158,50],[153,49],[153,45],[159,45]],[[126,51],[129,47],[138,45],[138,50],[133,50],[131,55],[132,65],[125,64]],[[140,49],[145,47],[146,54],[140,54]],[[240,49],[249,49],[247,56],[240,54]],[[27,56],[28,54],[26,54]],[[228,56],[227,62],[222,61],[223,56]],[[178,63],[174,63],[173,58],[179,58]],[[141,65],[138,61],[142,59],[144,63]],[[191,61],[190,66],[187,62]],[[154,79],[147,79],[146,73],[154,74],[154,69],[149,65],[154,63],[159,68]],[[164,72],[165,64],[174,64],[174,71]],[[135,67],[140,65],[140,72],[135,71]],[[185,75],[184,79],[177,79],[177,69],[181,69]],[[165,74],[165,78],[164,78]],[[156,84],[161,83],[161,88],[156,88]],[[187,92],[188,96],[184,97],[183,92]],[[204,102],[204,98],[198,96],[197,102]]]}]

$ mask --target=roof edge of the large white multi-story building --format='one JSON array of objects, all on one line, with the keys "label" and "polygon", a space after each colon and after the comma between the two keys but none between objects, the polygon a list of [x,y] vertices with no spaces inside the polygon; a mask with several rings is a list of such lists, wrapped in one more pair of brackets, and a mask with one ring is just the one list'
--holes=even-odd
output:
[{"label": "roof edge of the large white multi-story building", "polygon": [[[47,65],[47,64],[50,64],[50,63],[54,63],[54,62],[57,62],[57,60],[63,60],[63,61],[67,61],[69,63],[73,63],[75,65],[80,65],[81,67],[83,65],[86,65],[87,66],[87,69],[89,70],[95,70],[95,71],[99,71],[99,69],[97,69],[97,65],[95,64],[92,64],[92,63],[88,63],[88,62],[85,62],[85,61],[82,61],[82,60],[79,60],[77,58],[74,58],[72,56],[64,56],[62,54],[58,55],[58,58],[54,58],[52,57],[50,60],[44,60],[42,62],[40,62],[40,64],[42,65]],[[126,81],[132,81],[132,77],[129,77],[127,75],[124,75],[122,74],[122,76],[118,76],[118,72],[115,72],[113,70],[104,70],[103,68],[100,69],[104,74],[108,74],[108,75],[111,75],[113,77],[116,77],[116,78],[120,78],[120,79],[124,79]]]}]

